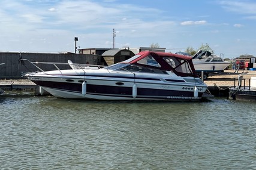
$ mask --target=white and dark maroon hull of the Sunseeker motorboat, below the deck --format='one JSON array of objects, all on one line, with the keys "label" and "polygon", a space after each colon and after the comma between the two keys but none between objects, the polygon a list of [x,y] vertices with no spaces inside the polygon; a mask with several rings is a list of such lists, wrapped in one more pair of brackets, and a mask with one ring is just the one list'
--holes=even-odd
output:
[{"label": "white and dark maroon hull of the Sunseeker motorboat, below the deck", "polygon": [[[92,79],[86,76],[81,79],[53,76],[28,77],[31,81],[40,85],[45,91],[58,98],[80,98],[95,100],[200,100],[207,86],[200,79],[189,79],[185,81],[171,81],[170,76],[164,79],[155,77],[144,77],[135,80],[124,78]],[[151,80],[150,80],[151,79]],[[167,81],[166,81],[167,80]],[[86,82],[86,91],[83,91],[83,82]],[[134,87],[135,85],[135,87]],[[194,96],[197,86],[198,96]]]}]

